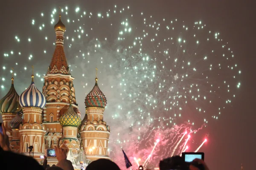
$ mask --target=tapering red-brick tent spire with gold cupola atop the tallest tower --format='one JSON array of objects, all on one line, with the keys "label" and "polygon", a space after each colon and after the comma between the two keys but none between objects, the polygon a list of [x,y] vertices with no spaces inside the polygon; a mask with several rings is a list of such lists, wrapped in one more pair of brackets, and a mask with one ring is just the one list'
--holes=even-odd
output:
[{"label": "tapering red-brick tent spire with gold cupola atop the tallest tower", "polygon": [[70,74],[69,68],[67,66],[67,60],[64,53],[64,32],[66,31],[66,27],[61,22],[61,15],[59,15],[59,21],[54,26],[55,34],[56,34],[56,47],[52,56],[52,61],[49,65],[48,72],[49,74]]}]

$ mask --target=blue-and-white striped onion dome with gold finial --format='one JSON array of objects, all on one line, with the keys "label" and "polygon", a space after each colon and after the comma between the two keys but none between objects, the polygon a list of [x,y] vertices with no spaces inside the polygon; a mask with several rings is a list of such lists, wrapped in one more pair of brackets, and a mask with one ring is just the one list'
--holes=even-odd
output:
[{"label": "blue-and-white striped onion dome with gold finial", "polygon": [[20,95],[19,102],[21,107],[44,108],[46,99],[44,94],[36,88],[34,75],[32,75],[31,85]]}]

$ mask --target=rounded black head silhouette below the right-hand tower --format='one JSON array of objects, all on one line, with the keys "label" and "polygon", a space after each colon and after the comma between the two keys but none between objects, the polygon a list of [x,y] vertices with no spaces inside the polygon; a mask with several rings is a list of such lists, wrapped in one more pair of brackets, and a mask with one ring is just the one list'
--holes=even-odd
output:
[{"label": "rounded black head silhouette below the right-hand tower", "polygon": [[120,170],[120,168],[113,161],[98,159],[91,162],[85,170]]}]

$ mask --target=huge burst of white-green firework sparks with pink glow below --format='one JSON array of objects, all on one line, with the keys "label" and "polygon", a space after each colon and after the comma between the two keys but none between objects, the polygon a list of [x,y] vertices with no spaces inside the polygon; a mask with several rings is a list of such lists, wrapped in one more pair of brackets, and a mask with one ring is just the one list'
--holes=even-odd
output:
[{"label": "huge burst of white-green firework sparks with pink glow below", "polygon": [[[201,21],[186,23],[164,16],[159,20],[129,6],[100,13],[66,6],[61,14],[80,111],[84,113],[84,98],[93,87],[97,67],[98,84],[108,99],[104,114],[112,127],[110,154],[121,167],[121,147],[131,159],[143,162],[180,154],[186,142],[181,140],[183,133],[216,121],[241,85],[233,51],[220,33]],[[29,83],[31,65],[37,85],[39,80],[43,85],[57,18],[57,8],[42,12],[29,19],[31,35],[13,35],[14,46],[3,54],[2,95],[8,90],[11,67],[20,84],[18,92]],[[151,153],[157,139],[160,142]],[[179,141],[182,146],[175,147]],[[180,148],[177,153],[175,148]]]}]

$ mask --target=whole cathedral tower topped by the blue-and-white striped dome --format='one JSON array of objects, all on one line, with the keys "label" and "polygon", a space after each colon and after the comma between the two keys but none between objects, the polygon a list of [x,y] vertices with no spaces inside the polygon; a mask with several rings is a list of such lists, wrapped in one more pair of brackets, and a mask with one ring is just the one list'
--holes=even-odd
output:
[{"label": "whole cathedral tower topped by the blue-and-white striped dome", "polygon": [[[44,135],[45,126],[42,125],[42,112],[46,104],[44,94],[42,94],[34,83],[32,75],[31,85],[20,95],[20,105],[23,110],[23,123],[19,126],[20,133],[20,153],[27,156],[34,156],[38,161],[44,155]],[[29,147],[33,146],[33,153]]]}]

